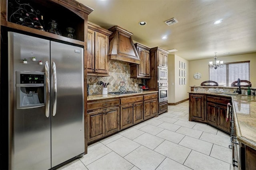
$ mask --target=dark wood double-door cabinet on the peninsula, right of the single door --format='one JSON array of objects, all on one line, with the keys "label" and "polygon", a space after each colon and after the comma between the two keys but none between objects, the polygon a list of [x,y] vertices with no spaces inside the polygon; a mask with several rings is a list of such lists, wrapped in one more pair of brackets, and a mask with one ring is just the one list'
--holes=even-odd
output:
[{"label": "dark wood double-door cabinet on the peninsula, right of the single door", "polygon": [[207,122],[223,131],[230,133],[230,121],[226,122],[227,104],[230,98],[207,96]]}]

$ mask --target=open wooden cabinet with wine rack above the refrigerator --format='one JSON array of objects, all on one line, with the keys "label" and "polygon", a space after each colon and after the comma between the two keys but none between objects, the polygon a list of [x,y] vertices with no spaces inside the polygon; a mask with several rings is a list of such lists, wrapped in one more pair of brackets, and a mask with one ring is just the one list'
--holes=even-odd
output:
[{"label": "open wooden cabinet with wine rack above the refrigerator", "polygon": [[0,3],[1,25],[84,46],[91,8],[75,0],[1,0]]}]

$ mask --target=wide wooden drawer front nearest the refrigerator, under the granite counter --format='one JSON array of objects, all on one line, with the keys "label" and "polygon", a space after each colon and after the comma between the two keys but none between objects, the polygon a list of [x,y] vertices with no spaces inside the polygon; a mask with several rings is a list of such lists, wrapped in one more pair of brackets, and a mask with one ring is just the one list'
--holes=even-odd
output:
[{"label": "wide wooden drawer front nearest the refrigerator, under the granite counter", "polygon": [[102,109],[104,107],[112,106],[119,106],[119,99],[87,103],[87,110]]}]

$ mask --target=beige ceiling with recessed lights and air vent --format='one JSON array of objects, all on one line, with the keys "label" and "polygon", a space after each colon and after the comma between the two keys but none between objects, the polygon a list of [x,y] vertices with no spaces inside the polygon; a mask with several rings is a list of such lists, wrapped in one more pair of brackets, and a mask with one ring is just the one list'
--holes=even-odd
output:
[{"label": "beige ceiling with recessed lights and air vent", "polygon": [[[256,0],[77,1],[94,9],[90,22],[106,29],[118,25],[132,32],[134,41],[177,49],[170,54],[188,61],[213,58],[215,52],[217,57],[256,52]],[[178,23],[166,25],[171,18]],[[222,23],[215,25],[219,19]]]}]

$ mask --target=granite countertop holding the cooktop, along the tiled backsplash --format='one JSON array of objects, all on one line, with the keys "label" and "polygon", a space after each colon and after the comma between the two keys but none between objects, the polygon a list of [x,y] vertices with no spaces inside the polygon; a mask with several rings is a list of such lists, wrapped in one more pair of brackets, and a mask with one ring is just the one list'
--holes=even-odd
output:
[{"label": "granite countertop holding the cooktop, along the tiled backsplash", "polygon": [[131,93],[131,94],[121,94],[121,95],[116,95],[116,94],[96,94],[96,95],[89,95],[87,96],[87,101],[92,101],[92,100],[101,100],[101,99],[111,99],[111,98],[120,98],[120,97],[125,97],[125,96],[136,96],[136,95],[144,95],[144,94],[150,94],[150,93],[155,93],[158,91],[154,90],[146,90],[138,93]]}]

